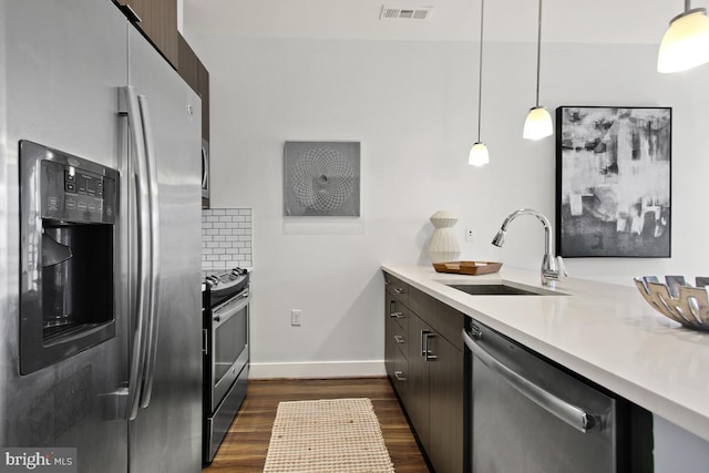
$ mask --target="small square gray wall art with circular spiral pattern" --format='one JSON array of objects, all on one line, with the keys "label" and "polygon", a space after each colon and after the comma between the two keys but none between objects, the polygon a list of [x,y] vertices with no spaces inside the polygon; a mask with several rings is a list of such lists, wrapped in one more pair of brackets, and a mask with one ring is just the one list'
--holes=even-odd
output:
[{"label": "small square gray wall art with circular spiral pattern", "polygon": [[284,216],[359,217],[359,142],[286,142]]}]

